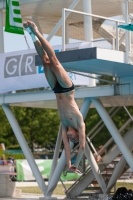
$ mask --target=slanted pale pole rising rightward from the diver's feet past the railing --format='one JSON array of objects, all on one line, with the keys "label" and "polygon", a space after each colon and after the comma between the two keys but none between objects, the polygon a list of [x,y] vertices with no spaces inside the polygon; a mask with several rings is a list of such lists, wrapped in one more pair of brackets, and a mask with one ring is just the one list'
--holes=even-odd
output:
[{"label": "slanted pale pole rising rightward from the diver's feet past the railing", "polygon": [[[72,2],[72,4],[69,6],[69,9],[74,9],[76,7],[76,5],[78,4],[79,0],[74,0]],[[66,13],[65,19],[70,15],[70,12]],[[59,28],[62,25],[62,18],[58,21],[58,23],[56,24],[56,26],[53,28],[53,30],[51,31],[51,33],[49,34],[49,36],[47,37],[47,40],[50,41],[52,39],[52,37],[56,34],[56,32],[59,30]]]}]

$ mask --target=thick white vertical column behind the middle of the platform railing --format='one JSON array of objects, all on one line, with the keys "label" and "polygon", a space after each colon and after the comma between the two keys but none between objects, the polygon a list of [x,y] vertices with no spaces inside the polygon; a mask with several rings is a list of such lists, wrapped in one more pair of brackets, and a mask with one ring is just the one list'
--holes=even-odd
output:
[{"label": "thick white vertical column behind the middle of the platform railing", "polygon": [[[83,12],[92,14],[92,8],[91,8],[91,0],[83,0]],[[92,17],[91,16],[85,16],[84,15],[84,37],[85,41],[91,42],[93,41],[93,27],[92,27]],[[93,47],[93,43],[92,43]],[[95,81],[95,74],[92,74],[91,78],[91,86],[96,86]]]}]

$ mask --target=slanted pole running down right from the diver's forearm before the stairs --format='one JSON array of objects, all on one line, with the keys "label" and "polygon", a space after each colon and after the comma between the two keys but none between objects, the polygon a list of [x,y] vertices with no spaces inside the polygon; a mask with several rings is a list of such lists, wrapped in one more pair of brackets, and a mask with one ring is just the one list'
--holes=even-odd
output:
[{"label": "slanted pole running down right from the diver's forearm before the stairs", "polygon": [[85,145],[85,156],[87,157],[87,159],[89,161],[89,164],[91,166],[91,169],[94,173],[95,178],[97,179],[99,186],[101,187],[103,193],[105,193],[105,191],[106,191],[105,181],[103,179],[103,176],[102,176],[101,171],[98,167],[98,164],[97,164],[87,142],[86,142],[86,145]]}]

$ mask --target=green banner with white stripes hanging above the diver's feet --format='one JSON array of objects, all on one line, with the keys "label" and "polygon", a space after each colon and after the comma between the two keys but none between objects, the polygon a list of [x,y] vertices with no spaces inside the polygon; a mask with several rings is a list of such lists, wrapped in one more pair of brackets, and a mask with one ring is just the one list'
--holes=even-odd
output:
[{"label": "green banner with white stripes hanging above the diver's feet", "polygon": [[5,31],[24,35],[19,0],[6,0]]}]

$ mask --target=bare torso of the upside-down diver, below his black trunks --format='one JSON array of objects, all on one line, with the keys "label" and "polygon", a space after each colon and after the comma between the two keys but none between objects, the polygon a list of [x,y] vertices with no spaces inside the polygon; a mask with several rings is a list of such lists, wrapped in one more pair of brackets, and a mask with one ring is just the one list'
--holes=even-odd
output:
[{"label": "bare torso of the upside-down diver, below his black trunks", "polygon": [[56,94],[58,113],[62,125],[67,129],[68,126],[78,130],[83,117],[74,100],[74,90],[66,93]]}]

